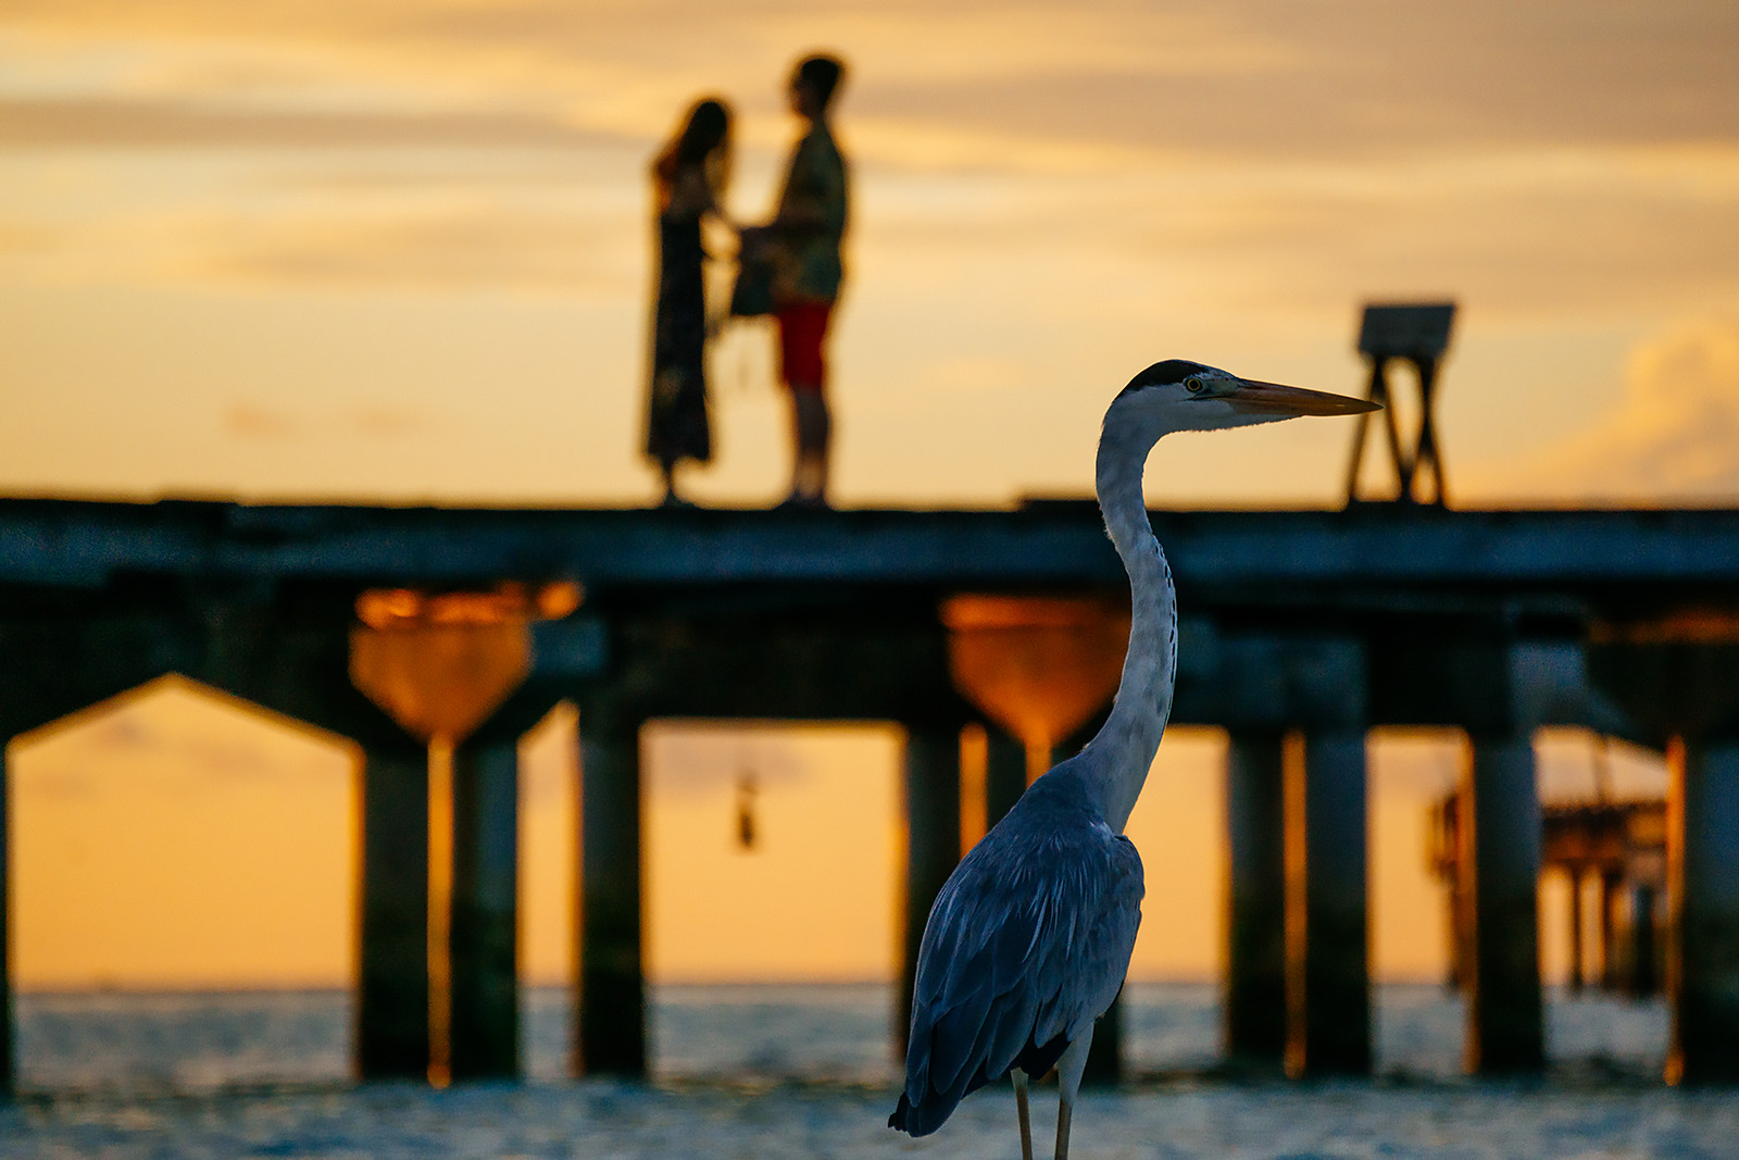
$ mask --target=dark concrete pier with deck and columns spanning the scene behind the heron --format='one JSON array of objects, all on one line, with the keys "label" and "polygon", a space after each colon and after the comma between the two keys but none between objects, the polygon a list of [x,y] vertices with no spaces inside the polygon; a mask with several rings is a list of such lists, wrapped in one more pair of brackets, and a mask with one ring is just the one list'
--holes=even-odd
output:
[{"label": "dark concrete pier with deck and columns spanning the scene behind the heron", "polygon": [[[1155,511],[1153,525],[1183,610],[1172,720],[1231,739],[1228,1057],[1369,1071],[1365,734],[1429,725],[1471,746],[1454,828],[1464,1057],[1480,1075],[1539,1070],[1536,885],[1556,847],[1530,734],[1579,725],[1669,757],[1666,1078],[1739,1078],[1739,511],[1353,504]],[[510,1077],[513,743],[572,701],[574,1066],[643,1075],[647,722],[904,729],[904,997],[962,854],[962,732],[984,730],[988,769],[969,781],[995,821],[1103,711],[1125,614],[1092,501],[791,513],[9,499],[0,739],[170,671],[351,737],[356,1073]],[[440,680],[452,689],[431,699]],[[431,751],[452,784],[452,908],[433,917]],[[426,1017],[431,922],[450,951],[445,1043]],[[1115,1026],[1101,1035],[1096,1068],[1115,1075]],[[9,1016],[0,1049],[9,1089]]]}]

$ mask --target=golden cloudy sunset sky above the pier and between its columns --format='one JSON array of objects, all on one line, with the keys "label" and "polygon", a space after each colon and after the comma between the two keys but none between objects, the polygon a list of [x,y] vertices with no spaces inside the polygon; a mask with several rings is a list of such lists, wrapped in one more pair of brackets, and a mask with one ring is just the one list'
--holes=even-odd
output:
[{"label": "golden cloudy sunset sky above the pier and between its columns", "polygon": [[[816,47],[850,63],[833,344],[847,506],[1082,494],[1104,402],[1134,370],[1188,357],[1351,391],[1358,304],[1423,296],[1461,303],[1440,407],[1454,501],[1739,496],[1739,5],[1715,0],[10,0],[0,492],[649,501],[647,162],[716,92],[741,117],[730,209],[763,217],[793,130],[783,82]],[[755,327],[720,343],[720,454],[690,480],[706,503],[784,490],[767,363]],[[1153,459],[1149,499],[1334,503],[1346,440],[1332,423],[1179,438]],[[748,897],[809,864],[796,847],[776,863],[774,837],[755,864],[706,845],[729,838],[718,802],[737,765],[786,770],[763,793],[769,835],[784,816],[859,819],[840,842],[873,863],[892,857],[876,828],[894,817],[896,743],[685,729],[649,741],[650,962],[671,977],[770,970],[723,934],[685,946],[697,920],[675,918],[696,906],[683,882],[729,873]],[[529,913],[553,917],[530,923],[529,957],[558,976],[548,859],[570,803],[560,746],[534,741],[532,767],[555,772],[530,779],[546,786],[527,798],[546,870]],[[1216,864],[1214,744],[1167,741],[1176,776],[1132,823],[1149,875]],[[1450,758],[1395,744],[1376,777],[1374,890],[1410,915],[1426,885],[1381,899],[1417,871],[1409,828]],[[1581,750],[1560,750],[1574,777]],[[334,739],[263,732],[169,689],[16,757],[26,983],[348,970]],[[155,951],[94,917],[118,903],[75,870],[158,866],[188,922],[217,922],[228,903],[200,890],[261,850],[237,837],[198,863],[186,828],[219,814],[237,835],[296,835],[313,877],[273,859],[261,875],[336,899],[306,920],[327,934],[252,965],[146,969]],[[181,854],[151,852],[153,835],[183,835]],[[1144,936],[1137,967],[1212,969],[1214,873],[1186,873],[1177,901],[1149,894],[1149,929],[1170,913],[1155,906],[1176,908],[1172,950]],[[854,882],[887,929],[830,936],[810,974],[885,970],[866,948],[885,953],[892,896],[875,890],[890,880]],[[54,890],[85,890],[87,910]],[[50,937],[80,913],[122,950]],[[1424,970],[1440,948],[1409,958],[1402,943],[1438,937],[1435,922],[1389,950],[1379,929],[1379,962]]]}]

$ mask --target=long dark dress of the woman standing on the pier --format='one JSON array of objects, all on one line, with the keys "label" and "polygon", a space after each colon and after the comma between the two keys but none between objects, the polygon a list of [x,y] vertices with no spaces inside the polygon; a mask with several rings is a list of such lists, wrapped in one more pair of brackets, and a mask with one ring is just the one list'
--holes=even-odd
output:
[{"label": "long dark dress of the woman standing on the pier", "polygon": [[647,456],[661,464],[713,457],[706,414],[706,289],[701,216],[664,210],[657,219],[657,306],[652,320],[652,388]]}]

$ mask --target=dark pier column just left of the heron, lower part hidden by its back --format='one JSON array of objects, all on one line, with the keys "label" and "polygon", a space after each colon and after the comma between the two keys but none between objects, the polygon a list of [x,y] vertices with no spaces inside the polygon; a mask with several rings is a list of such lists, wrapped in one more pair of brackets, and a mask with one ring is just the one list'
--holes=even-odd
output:
[{"label": "dark pier column just left of the heron, lower part hidden by its back", "polygon": [[906,923],[894,1019],[901,1056],[911,1030],[911,988],[918,977],[923,923],[958,863],[960,734],[911,725],[906,730]]}]

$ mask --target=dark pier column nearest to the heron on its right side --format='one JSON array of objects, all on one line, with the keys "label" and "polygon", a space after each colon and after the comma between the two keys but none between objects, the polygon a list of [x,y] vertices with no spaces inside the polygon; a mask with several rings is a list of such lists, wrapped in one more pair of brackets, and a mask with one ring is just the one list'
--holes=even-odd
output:
[{"label": "dark pier column nearest to the heron on its right side", "polygon": [[1275,1068],[1287,1047],[1287,863],[1280,730],[1233,730],[1226,746],[1226,1007],[1223,1045]]}]

